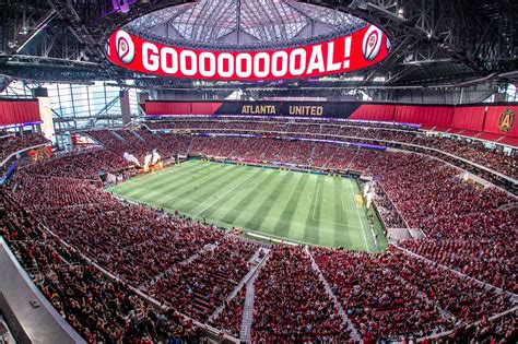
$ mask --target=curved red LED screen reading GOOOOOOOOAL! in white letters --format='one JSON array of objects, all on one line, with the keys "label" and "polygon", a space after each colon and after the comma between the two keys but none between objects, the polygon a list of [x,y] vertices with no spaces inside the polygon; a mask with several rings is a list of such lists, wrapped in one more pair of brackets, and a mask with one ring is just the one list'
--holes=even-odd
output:
[{"label": "curved red LED screen reading GOOOOOOOOAL! in white letters", "polygon": [[113,63],[141,73],[210,80],[276,80],[357,71],[390,51],[388,37],[368,25],[348,36],[282,50],[208,51],[149,41],[123,29],[106,44]]}]

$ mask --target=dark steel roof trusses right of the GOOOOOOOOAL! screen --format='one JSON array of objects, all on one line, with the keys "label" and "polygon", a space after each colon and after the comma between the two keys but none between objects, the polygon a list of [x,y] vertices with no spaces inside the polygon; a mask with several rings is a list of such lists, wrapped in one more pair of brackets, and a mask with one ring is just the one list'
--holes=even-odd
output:
[{"label": "dark steel roof trusses right of the GOOOOOOOOAL! screen", "polygon": [[[379,25],[391,37],[388,59],[366,74],[387,84],[455,85],[473,76],[516,80],[518,3],[483,0],[319,1]],[[483,24],[482,24],[483,23]],[[506,74],[503,74],[506,73]],[[486,80],[484,80],[485,82]]]}]

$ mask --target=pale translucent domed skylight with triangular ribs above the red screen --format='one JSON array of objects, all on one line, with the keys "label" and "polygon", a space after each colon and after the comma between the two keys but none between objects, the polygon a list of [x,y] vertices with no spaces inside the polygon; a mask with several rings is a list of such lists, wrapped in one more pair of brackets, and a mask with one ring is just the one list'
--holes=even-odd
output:
[{"label": "pale translucent domed skylight with triangular ribs above the red screen", "polygon": [[349,13],[298,0],[200,0],[149,13],[125,29],[172,45],[264,48],[349,34],[366,25]]}]

